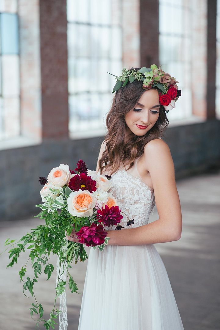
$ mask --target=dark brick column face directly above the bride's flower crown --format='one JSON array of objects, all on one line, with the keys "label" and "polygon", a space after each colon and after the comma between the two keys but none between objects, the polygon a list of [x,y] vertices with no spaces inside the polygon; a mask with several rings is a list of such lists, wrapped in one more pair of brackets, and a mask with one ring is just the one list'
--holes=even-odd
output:
[{"label": "dark brick column face directly above the bride's flower crown", "polygon": [[150,68],[159,61],[159,2],[140,0],[140,66]]}]

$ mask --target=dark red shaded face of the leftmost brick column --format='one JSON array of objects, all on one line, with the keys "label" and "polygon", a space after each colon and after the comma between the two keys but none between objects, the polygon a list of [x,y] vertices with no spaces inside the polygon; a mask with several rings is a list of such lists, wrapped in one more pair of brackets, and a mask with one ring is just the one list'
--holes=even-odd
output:
[{"label": "dark red shaded face of the leftmost brick column", "polygon": [[66,0],[39,0],[43,140],[69,137]]}]

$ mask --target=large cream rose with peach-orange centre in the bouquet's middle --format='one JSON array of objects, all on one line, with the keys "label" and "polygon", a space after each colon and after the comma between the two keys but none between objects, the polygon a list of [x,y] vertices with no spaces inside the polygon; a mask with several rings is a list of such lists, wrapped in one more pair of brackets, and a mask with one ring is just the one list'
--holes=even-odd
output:
[{"label": "large cream rose with peach-orange centre in the bouquet's middle", "polygon": [[93,215],[96,199],[89,190],[72,191],[67,199],[68,211],[71,215],[86,217]]}]

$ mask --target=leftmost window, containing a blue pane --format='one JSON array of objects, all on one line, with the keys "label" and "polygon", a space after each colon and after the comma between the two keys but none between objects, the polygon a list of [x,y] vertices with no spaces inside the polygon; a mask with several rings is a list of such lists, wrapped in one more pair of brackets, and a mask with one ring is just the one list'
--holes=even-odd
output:
[{"label": "leftmost window, containing a blue pane", "polygon": [[[8,10],[9,12],[6,12]],[[0,139],[20,134],[19,44],[16,1],[0,6]]]}]

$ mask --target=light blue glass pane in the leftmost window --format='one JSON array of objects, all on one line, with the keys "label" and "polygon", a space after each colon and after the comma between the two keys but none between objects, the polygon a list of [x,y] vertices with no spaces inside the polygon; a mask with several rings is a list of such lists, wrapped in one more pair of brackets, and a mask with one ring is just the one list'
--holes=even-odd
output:
[{"label": "light blue glass pane in the leftmost window", "polygon": [[0,14],[1,53],[18,54],[18,17],[17,14]]}]

